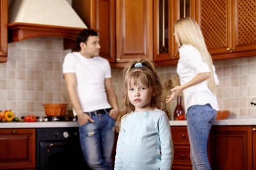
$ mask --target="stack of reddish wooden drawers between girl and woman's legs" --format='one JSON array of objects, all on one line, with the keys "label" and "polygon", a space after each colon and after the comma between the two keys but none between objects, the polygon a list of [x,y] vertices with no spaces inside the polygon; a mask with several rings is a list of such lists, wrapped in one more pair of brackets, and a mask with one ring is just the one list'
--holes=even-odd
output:
[{"label": "stack of reddish wooden drawers between girl and woman's legs", "polygon": [[171,126],[174,157],[172,170],[192,169],[187,126]]}]

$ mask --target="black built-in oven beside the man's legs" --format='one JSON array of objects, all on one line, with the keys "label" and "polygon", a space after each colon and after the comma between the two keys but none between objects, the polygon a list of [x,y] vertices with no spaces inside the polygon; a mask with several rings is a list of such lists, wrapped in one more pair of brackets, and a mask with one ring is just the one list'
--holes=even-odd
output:
[{"label": "black built-in oven beside the man's legs", "polygon": [[36,169],[90,169],[83,159],[78,127],[36,129]]}]

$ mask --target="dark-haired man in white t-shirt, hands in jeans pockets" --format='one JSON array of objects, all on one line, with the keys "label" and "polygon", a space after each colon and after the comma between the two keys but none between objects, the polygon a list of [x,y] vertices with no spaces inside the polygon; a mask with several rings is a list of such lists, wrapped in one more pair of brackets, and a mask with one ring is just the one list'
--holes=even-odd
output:
[{"label": "dark-haired man in white t-shirt, hands in jeans pockets", "polygon": [[79,52],[65,56],[63,74],[79,124],[84,160],[93,170],[109,170],[113,167],[113,127],[119,113],[111,68],[108,60],[99,57],[97,32],[84,29],[76,41]]}]

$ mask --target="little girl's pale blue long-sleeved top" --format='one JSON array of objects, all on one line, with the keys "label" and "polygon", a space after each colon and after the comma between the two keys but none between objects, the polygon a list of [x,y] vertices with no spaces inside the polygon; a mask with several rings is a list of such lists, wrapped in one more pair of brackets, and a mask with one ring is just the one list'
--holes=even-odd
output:
[{"label": "little girl's pale blue long-sleeved top", "polygon": [[161,110],[132,112],[121,120],[115,170],[165,170],[173,161],[170,123]]}]

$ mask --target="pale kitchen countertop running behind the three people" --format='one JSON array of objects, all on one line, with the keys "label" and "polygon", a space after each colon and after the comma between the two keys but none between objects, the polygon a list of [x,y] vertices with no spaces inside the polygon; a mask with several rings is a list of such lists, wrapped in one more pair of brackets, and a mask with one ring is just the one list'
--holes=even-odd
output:
[{"label": "pale kitchen countertop running behind the three people", "polygon": [[[186,120],[170,120],[171,126],[187,125]],[[256,116],[228,117],[215,120],[213,125],[256,125]],[[44,128],[44,127],[77,127],[77,122],[1,122],[4,128]]]}]

